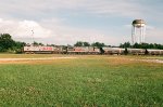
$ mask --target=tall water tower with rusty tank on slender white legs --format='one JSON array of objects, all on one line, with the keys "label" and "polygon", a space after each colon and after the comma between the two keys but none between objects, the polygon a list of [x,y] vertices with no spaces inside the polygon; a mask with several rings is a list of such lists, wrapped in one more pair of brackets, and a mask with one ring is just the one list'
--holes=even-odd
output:
[{"label": "tall water tower with rusty tank on slender white legs", "polygon": [[133,21],[131,28],[131,42],[134,43],[143,43],[146,36],[146,23],[143,19]]}]

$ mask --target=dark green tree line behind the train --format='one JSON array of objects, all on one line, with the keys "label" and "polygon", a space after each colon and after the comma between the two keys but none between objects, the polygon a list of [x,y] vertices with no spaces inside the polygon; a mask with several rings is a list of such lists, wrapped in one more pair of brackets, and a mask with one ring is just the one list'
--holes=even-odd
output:
[{"label": "dark green tree line behind the train", "polygon": [[[25,42],[21,41],[15,41],[12,39],[12,36],[9,34],[0,34],[0,52],[12,52],[12,53],[21,53],[23,50],[23,46],[27,45]],[[45,45],[43,43],[38,43],[34,41],[33,45]],[[47,44],[54,46],[55,44]],[[68,46],[64,45],[64,46]],[[70,46],[97,46],[97,48],[103,48],[103,46],[111,46],[106,45],[102,42],[93,42],[89,43],[86,41],[77,41],[74,45]],[[111,46],[112,48],[112,46]],[[117,48],[133,48],[133,49],[160,49],[163,50],[163,44],[158,44],[158,43],[135,43],[130,44],[129,42],[121,43]]]}]

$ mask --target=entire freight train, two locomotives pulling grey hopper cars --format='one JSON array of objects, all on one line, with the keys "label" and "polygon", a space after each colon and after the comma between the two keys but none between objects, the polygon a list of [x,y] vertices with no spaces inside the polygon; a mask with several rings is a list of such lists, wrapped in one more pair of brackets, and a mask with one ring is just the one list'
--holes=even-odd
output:
[{"label": "entire freight train, two locomotives pulling grey hopper cars", "polygon": [[[127,52],[126,52],[127,51]],[[163,55],[163,50],[152,49],[122,49],[122,48],[97,48],[97,46],[41,46],[27,45],[23,50],[26,54],[110,54],[110,55]]]}]

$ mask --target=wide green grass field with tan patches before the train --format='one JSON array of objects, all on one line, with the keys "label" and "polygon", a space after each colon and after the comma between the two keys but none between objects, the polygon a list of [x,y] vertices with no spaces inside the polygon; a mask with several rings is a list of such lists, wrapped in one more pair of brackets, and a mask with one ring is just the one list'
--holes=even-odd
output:
[{"label": "wide green grass field with tan patches before the train", "polygon": [[0,107],[162,107],[162,56],[13,55],[75,57],[0,63]]}]

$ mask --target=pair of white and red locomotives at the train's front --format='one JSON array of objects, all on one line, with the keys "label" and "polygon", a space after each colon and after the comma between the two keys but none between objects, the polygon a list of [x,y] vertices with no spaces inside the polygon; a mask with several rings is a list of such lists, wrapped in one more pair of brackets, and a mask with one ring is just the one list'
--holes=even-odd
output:
[{"label": "pair of white and red locomotives at the train's front", "polygon": [[23,52],[26,54],[100,54],[99,48],[93,46],[26,45]]}]

